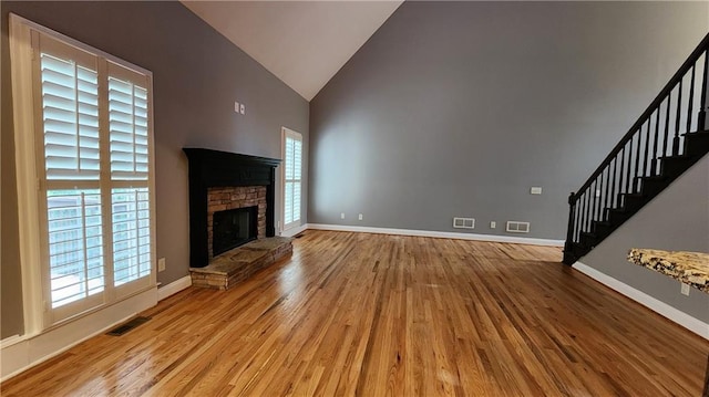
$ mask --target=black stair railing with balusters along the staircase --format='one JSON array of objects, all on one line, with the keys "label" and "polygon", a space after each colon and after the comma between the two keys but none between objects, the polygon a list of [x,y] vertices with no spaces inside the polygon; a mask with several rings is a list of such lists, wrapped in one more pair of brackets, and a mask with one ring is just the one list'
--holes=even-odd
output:
[{"label": "black stair railing with balusters along the staircase", "polygon": [[586,182],[569,195],[564,263],[573,264],[593,248],[593,241],[583,241],[584,234],[594,236],[613,209],[624,208],[624,198],[639,194],[641,178],[657,177],[662,158],[684,154],[686,134],[709,129],[708,50],[709,34]]}]

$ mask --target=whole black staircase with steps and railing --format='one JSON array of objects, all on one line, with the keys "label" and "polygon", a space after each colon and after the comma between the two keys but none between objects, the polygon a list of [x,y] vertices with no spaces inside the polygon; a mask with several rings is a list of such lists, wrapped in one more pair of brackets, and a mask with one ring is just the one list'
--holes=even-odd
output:
[{"label": "whole black staircase with steps and railing", "polygon": [[564,263],[573,264],[709,153],[709,34],[568,197]]}]

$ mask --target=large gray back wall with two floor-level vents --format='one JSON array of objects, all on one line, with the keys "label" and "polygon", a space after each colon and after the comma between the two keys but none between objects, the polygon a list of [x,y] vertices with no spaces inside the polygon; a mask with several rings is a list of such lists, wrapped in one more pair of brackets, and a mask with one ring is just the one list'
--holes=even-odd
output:
[{"label": "large gray back wall with two floor-level vents", "polygon": [[522,220],[563,240],[568,194],[708,18],[707,2],[404,2],[311,101],[309,222],[460,231],[467,216],[474,233]]}]

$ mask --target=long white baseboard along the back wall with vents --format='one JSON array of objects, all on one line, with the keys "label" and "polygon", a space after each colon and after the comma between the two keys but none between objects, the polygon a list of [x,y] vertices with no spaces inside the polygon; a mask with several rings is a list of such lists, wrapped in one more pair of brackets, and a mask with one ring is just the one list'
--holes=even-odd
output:
[{"label": "long white baseboard along the back wall with vents", "polygon": [[513,237],[513,236],[456,233],[456,232],[450,232],[450,231],[390,229],[390,228],[372,228],[372,227],[366,227],[366,226],[322,224],[322,223],[308,223],[307,228],[315,229],[315,230],[353,231],[353,232],[361,232],[361,233],[399,234],[399,236],[415,236],[415,237],[433,237],[433,238],[441,238],[441,239],[511,242],[516,244],[532,244],[532,245],[552,245],[552,247],[564,245],[564,240],[534,239],[528,237]]}]

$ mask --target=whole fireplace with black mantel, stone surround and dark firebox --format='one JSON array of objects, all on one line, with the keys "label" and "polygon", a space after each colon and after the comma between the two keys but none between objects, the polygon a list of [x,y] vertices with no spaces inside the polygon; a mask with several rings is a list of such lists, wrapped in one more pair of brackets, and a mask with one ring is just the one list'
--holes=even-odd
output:
[{"label": "whole fireplace with black mantel, stone surround and dark firebox", "polygon": [[[189,161],[191,268],[204,268],[212,258],[238,244],[276,236],[275,180],[280,160],[201,148],[184,148],[183,152]],[[215,237],[220,239],[219,234],[228,234],[230,239],[242,233],[220,229],[228,223],[238,223],[240,229],[243,222],[230,215],[215,219],[215,215],[223,211],[250,213],[247,223],[251,230],[246,241],[219,242],[217,247]]]}]

